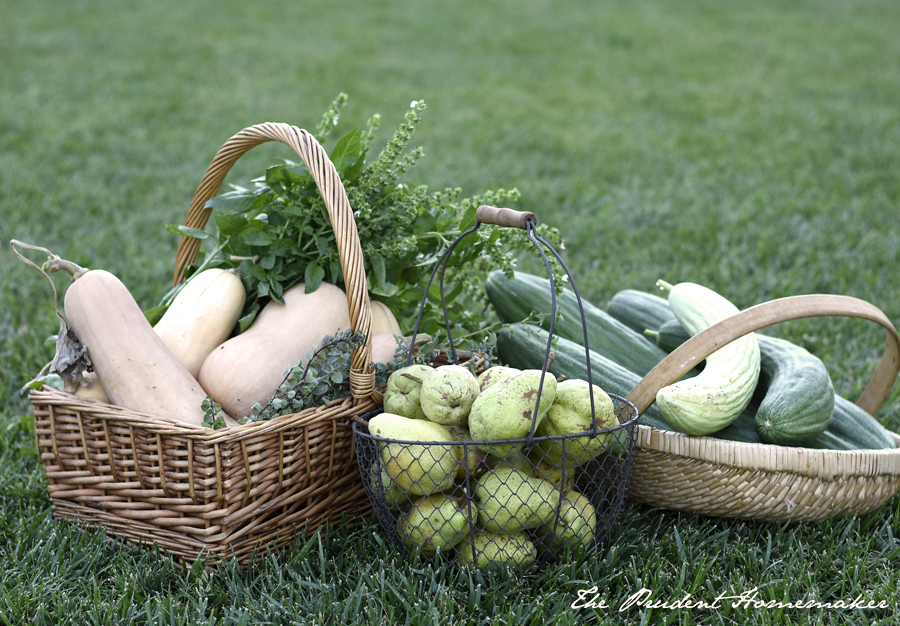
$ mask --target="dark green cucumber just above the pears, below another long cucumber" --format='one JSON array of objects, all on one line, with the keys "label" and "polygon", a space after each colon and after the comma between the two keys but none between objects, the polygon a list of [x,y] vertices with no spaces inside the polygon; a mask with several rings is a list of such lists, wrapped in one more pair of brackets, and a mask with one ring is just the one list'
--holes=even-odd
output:
[{"label": "dark green cucumber just above the pears, below another long cucumber", "polygon": [[[548,333],[530,324],[514,324],[497,333],[497,358],[518,369],[541,369],[547,351]],[[587,380],[584,347],[560,337],[554,348],[554,360],[548,371],[554,376]],[[590,351],[591,382],[607,393],[625,397],[641,381],[641,376],[601,354]],[[651,405],[638,420],[639,424],[661,430],[674,429],[666,423],[656,405]]]}]

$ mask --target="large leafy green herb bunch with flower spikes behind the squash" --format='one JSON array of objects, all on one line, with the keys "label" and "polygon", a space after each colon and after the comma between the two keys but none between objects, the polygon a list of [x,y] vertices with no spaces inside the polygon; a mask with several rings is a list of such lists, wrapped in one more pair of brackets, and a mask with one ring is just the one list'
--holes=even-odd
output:
[{"label": "large leafy green herb bunch with flower spikes behind the squash", "polygon": [[[347,96],[338,96],[317,127],[316,139],[325,146],[337,126]],[[509,206],[519,198],[516,189],[487,191],[462,198],[460,189],[429,192],[424,185],[402,182],[424,152],[407,150],[421,121],[425,103],[410,105],[404,121],[377,158],[369,161],[380,117],[372,116],[341,137],[330,157],[353,207],[362,246],[370,297],[386,302],[404,332],[412,330],[426,285],[441,254],[463,231],[475,224],[482,204]],[[344,288],[334,231],[324,200],[303,164],[285,161],[267,169],[252,185],[235,187],[207,203],[214,210],[217,233],[184,226],[168,226],[180,235],[208,240],[192,273],[208,267],[240,267],[247,304],[240,330],[246,329],[269,300],[304,282],[306,291],[325,280]],[[539,226],[539,233],[561,246],[559,232]],[[517,255],[534,251],[525,232],[483,226],[454,249],[444,278],[447,317],[457,331],[473,332],[486,323],[484,279],[501,269],[510,277]],[[554,271],[562,276],[554,263]],[[560,287],[563,280],[559,281]],[[159,307],[174,298],[170,292]],[[148,317],[150,314],[148,313]],[[428,292],[420,332],[436,334],[444,328],[438,280]]]}]

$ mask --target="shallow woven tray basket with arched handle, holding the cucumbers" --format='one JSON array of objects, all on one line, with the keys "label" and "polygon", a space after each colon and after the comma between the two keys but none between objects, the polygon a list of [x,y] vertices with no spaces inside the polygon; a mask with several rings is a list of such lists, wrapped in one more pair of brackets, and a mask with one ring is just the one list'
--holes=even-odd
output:
[{"label": "shallow woven tray basket with arched handle, holding the cucumbers", "polygon": [[[719,322],[674,350],[628,399],[643,413],[662,387],[721,346],[772,324],[820,315],[863,318],[887,330],[884,355],[857,401],[874,415],[900,371],[900,336],[868,302],[824,294],[773,300]],[[900,444],[900,436],[892,435]],[[639,425],[637,449],[630,498],[714,517],[820,521],[863,515],[900,490],[900,448],[813,450],[691,437]]]}]

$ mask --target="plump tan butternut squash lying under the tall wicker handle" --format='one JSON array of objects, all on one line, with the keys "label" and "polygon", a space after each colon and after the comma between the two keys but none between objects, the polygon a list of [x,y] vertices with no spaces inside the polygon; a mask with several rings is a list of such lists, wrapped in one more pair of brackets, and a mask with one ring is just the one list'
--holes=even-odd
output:
[{"label": "plump tan butternut squash lying under the tall wicker handle", "polygon": [[312,293],[305,284],[285,290],[284,304],[269,302],[253,324],[213,350],[200,368],[200,384],[229,415],[250,415],[272,397],[285,372],[326,335],[350,328],[344,292],[323,282]]}]

